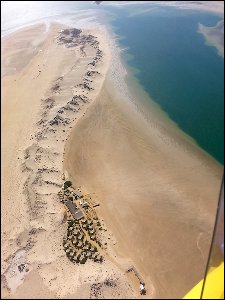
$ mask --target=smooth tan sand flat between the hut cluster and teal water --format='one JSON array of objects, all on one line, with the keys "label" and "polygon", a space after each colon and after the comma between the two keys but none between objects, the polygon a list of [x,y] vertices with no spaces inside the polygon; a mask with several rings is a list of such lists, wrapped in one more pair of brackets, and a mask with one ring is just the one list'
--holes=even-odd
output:
[{"label": "smooth tan sand flat between the hut cluster and teal water", "polygon": [[118,68],[72,130],[64,166],[96,193],[115,260],[136,267],[146,296],[181,298],[204,275],[222,167],[154,106],[138,112]]}]

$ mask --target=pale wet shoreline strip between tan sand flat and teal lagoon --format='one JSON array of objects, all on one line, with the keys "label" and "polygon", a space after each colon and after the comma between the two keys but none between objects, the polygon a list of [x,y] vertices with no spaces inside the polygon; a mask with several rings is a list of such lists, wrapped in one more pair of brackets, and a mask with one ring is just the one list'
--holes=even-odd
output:
[{"label": "pale wet shoreline strip between tan sand flat and teal lagoon", "polygon": [[[115,90],[120,90],[120,94],[123,94],[124,101],[126,103],[132,103],[133,109],[142,115],[146,124],[149,122],[158,123],[159,130],[166,129],[171,130],[171,135],[181,138],[185,145],[189,145],[190,149],[195,149],[196,155],[202,158],[204,161],[211,161],[211,164],[215,164],[218,167],[223,165],[216,160],[210,153],[201,148],[197,141],[184,132],[179,125],[173,121],[168,113],[164,111],[160,105],[152,99],[148,93],[144,90],[143,86],[139,84],[135,78],[135,74],[130,68],[129,64],[121,58],[120,53],[124,50],[117,43],[118,36],[114,33],[109,34],[110,46],[113,49],[112,55],[112,67],[109,77],[112,79],[112,84]],[[138,99],[138,100],[137,100]]]}]

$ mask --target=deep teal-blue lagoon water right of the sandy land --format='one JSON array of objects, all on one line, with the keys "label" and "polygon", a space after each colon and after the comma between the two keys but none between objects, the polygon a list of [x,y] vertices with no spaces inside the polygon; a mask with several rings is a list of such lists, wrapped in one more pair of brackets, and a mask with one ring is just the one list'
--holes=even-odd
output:
[{"label": "deep teal-blue lagoon water right of the sandy land", "polygon": [[[111,11],[112,12],[112,11]],[[198,23],[215,26],[208,13],[155,8],[132,15],[114,9],[111,21],[129,47],[126,62],[170,118],[220,163],[224,163],[224,67],[214,47],[197,33]],[[129,59],[127,59],[129,57]]]}]

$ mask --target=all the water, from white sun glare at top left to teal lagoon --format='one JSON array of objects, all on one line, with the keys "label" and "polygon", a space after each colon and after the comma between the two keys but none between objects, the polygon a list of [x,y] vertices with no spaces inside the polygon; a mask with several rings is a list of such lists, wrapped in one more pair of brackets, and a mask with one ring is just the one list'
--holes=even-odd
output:
[{"label": "all the water, from white sun glare at top left to teal lagoon", "polygon": [[3,35],[45,18],[68,19],[74,26],[80,19],[110,22],[121,46],[129,47],[123,58],[138,70],[135,77],[145,91],[200,147],[224,163],[224,61],[197,33],[199,22],[214,26],[219,17],[153,2],[115,8],[89,1],[3,1],[1,8]]}]

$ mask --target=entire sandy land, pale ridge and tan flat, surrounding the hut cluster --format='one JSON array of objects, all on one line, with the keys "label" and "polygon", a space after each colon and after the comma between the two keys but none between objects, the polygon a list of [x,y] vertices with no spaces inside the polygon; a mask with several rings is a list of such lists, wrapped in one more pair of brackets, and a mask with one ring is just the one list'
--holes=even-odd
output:
[{"label": "entire sandy land, pale ridge and tan flat, surrounding the hut cluster", "polygon": [[[3,39],[3,299],[180,298],[203,277],[222,166],[154,105],[141,113],[114,47],[56,23]],[[65,174],[100,204],[101,264],[63,251]]]}]

